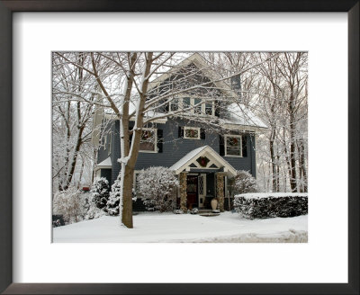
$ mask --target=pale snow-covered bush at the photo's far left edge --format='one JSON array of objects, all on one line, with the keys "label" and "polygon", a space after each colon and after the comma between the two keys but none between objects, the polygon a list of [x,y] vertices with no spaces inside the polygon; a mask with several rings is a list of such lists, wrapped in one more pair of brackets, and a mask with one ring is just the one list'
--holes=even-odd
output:
[{"label": "pale snow-covered bush at the photo's far left edge", "polygon": [[52,202],[54,215],[62,215],[66,223],[74,223],[84,219],[85,195],[74,186],[67,191],[55,192]]}]

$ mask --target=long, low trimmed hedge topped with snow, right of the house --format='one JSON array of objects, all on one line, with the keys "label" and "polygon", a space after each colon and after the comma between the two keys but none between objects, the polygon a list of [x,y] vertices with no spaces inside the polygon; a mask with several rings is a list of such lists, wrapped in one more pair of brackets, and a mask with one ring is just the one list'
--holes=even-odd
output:
[{"label": "long, low trimmed hedge topped with snow, right of the house", "polygon": [[234,208],[247,219],[293,217],[308,214],[308,194],[270,192],[238,194]]}]

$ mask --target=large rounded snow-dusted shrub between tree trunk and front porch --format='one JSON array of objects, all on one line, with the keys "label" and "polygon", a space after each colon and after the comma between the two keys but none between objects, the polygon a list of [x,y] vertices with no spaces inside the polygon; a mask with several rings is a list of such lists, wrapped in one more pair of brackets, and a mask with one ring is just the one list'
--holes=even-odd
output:
[{"label": "large rounded snow-dusted shrub between tree trunk and front porch", "polygon": [[179,181],[174,171],[162,167],[141,170],[137,179],[137,193],[148,210],[171,211],[175,205],[175,189]]}]

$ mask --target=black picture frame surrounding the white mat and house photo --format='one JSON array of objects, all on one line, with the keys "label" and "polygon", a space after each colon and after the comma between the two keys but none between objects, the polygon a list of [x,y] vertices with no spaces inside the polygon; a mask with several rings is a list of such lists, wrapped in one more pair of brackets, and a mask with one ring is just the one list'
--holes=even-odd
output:
[{"label": "black picture frame surrounding the white mat and house photo", "polygon": [[[13,283],[12,17],[14,12],[347,12],[348,283]],[[0,291],[4,294],[359,294],[358,0],[0,0]],[[340,102],[341,103],[341,102]],[[13,112],[12,112],[13,111]],[[329,237],[330,239],[331,237]]]}]

